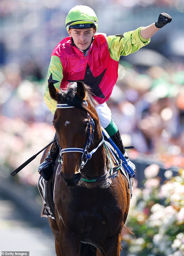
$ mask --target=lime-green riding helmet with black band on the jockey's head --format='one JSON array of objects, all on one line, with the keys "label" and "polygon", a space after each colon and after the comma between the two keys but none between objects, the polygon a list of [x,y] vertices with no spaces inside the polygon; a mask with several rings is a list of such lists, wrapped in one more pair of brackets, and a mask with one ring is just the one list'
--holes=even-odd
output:
[{"label": "lime-green riding helmet with black band on the jockey's head", "polygon": [[90,27],[96,27],[97,31],[98,18],[90,7],[85,5],[76,5],[66,16],[65,25],[67,31],[69,31],[69,28],[85,29]]}]

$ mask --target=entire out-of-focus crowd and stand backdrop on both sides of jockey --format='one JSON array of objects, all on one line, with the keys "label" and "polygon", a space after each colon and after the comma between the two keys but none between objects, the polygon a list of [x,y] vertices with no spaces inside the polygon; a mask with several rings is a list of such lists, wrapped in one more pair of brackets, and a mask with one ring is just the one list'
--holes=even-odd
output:
[{"label": "entire out-of-focus crowd and stand backdrop on both sides of jockey", "polygon": [[[1,0],[1,169],[9,173],[10,166],[13,171],[54,136],[53,114],[43,100],[46,74],[53,48],[68,35],[66,14],[79,4],[95,10],[99,32],[107,35],[148,25],[160,10],[173,16],[140,55],[120,60],[119,78],[107,104],[123,143],[135,146],[129,157],[146,155],[165,163],[165,168],[184,166],[183,0]],[[37,182],[39,157],[36,161],[26,167],[31,184]]]}]

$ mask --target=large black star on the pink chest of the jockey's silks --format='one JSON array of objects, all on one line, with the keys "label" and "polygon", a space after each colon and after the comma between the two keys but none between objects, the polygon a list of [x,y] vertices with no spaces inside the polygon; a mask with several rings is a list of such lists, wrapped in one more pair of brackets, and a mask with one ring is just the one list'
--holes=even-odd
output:
[{"label": "large black star on the pink chest of the jockey's silks", "polygon": [[105,96],[102,93],[99,85],[102,81],[102,78],[104,77],[105,71],[106,71],[106,69],[104,69],[104,71],[99,76],[94,77],[93,73],[91,72],[91,69],[89,67],[89,64],[87,63],[84,79],[75,80],[75,81],[67,80],[67,81],[68,82],[81,81],[81,82],[83,82],[86,85],[89,85],[91,87],[91,92],[93,92],[93,94],[95,94],[95,96],[104,99]]}]

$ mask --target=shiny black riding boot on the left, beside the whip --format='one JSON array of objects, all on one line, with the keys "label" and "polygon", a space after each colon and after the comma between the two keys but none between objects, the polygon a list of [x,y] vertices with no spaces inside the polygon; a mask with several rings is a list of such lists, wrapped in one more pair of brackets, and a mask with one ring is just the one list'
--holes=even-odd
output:
[{"label": "shiny black riding boot on the left, beside the whip", "polygon": [[[57,138],[56,134],[54,136],[54,139],[55,138]],[[44,162],[40,164],[38,167],[39,174],[47,181],[50,179],[53,173],[53,167],[54,167],[55,160],[57,158],[58,153],[59,153],[59,147],[58,147],[58,141],[56,139],[51,144],[50,149],[48,151],[48,155],[45,158]]]}]

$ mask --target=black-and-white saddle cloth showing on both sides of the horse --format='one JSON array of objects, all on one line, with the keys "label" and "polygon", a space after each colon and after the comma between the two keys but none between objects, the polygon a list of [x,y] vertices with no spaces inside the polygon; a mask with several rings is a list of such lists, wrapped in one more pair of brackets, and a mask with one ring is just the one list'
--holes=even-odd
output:
[{"label": "black-and-white saddle cloth showing on both sides of the horse", "polygon": [[[114,150],[113,146],[111,143],[109,143],[109,140],[104,136],[104,142],[106,143],[107,147],[111,151],[111,154],[113,155],[114,159],[116,160],[117,164],[119,163],[119,157],[116,153],[116,150]],[[58,155],[59,157],[59,155]],[[57,170],[59,168],[59,162],[56,160],[55,161],[55,167],[54,168],[54,173],[52,174],[51,178],[49,181],[44,180],[42,176],[39,177],[38,180],[38,190],[39,193],[42,197],[43,201],[43,207],[42,207],[42,212],[41,212],[41,217],[46,217],[46,218],[52,218],[55,219],[55,204],[54,204],[54,191],[55,191],[55,177],[57,175]],[[130,193],[132,197],[132,183],[133,183],[133,178],[130,178],[127,171],[123,167],[120,168],[120,172],[127,178],[129,182],[129,188],[130,188]]]}]

